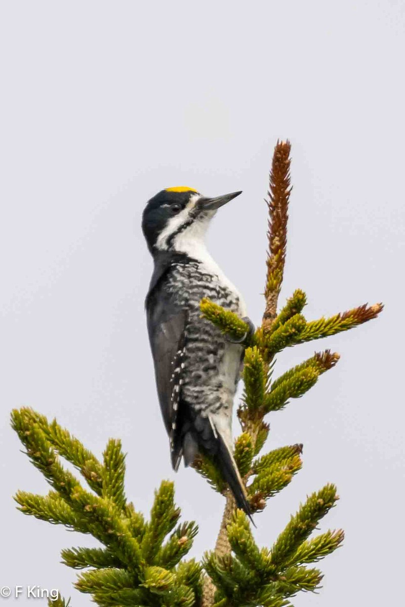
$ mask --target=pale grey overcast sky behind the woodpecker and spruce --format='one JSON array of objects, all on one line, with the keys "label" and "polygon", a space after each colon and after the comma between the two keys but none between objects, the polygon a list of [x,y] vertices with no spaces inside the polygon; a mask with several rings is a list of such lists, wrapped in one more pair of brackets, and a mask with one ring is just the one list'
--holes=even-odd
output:
[{"label": "pale grey overcast sky behind the woodpecker and spruce", "polygon": [[390,0],[2,2],[0,585],[58,587],[73,607],[90,605],[59,561],[62,548],[91,539],[24,517],[12,501],[17,489],[47,490],[9,427],[21,405],[56,416],[99,455],[109,436],[122,438],[136,507],[148,512],[160,480],[174,479],[183,517],[200,525],[192,554],[213,547],[222,498],[169,464],[140,215],[168,186],[242,189],[217,215],[209,248],[258,324],[262,199],[274,143],[288,137],[281,300],[304,289],[309,319],[367,301],[386,310],[279,357],[276,373],[315,348],[341,353],[310,393],[270,417],[267,450],[302,442],[304,468],[255,517],[255,533],[270,545],[305,495],[333,481],[341,501],[322,529],[344,527],[344,548],[321,563],[321,595],[294,605],[398,604],[404,16]]}]

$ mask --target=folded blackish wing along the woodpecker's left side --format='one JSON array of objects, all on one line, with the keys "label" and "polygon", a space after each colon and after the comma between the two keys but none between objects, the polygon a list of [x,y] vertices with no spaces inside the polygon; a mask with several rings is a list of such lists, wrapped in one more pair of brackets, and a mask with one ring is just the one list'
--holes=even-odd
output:
[{"label": "folded blackish wing along the woodpecker's left side", "polygon": [[162,290],[155,288],[147,301],[148,333],[155,365],[157,393],[168,434],[175,429],[180,386],[174,390],[174,374],[179,366],[179,351],[183,348],[186,310],[167,300]]}]

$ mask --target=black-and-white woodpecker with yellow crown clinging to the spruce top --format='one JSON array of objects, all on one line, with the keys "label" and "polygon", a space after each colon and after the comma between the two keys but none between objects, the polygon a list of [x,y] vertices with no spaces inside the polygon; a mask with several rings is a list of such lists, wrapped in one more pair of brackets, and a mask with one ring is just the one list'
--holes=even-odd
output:
[{"label": "black-and-white woodpecker with yellow crown clinging to the spruce top", "polygon": [[162,190],[147,203],[142,229],[154,259],[145,307],[172,467],[177,471],[182,458],[189,466],[197,453],[208,454],[237,506],[250,515],[231,431],[243,347],[228,341],[200,311],[200,300],[209,297],[246,317],[242,296],[204,242],[217,209],[241,193],[206,198],[186,186]]}]

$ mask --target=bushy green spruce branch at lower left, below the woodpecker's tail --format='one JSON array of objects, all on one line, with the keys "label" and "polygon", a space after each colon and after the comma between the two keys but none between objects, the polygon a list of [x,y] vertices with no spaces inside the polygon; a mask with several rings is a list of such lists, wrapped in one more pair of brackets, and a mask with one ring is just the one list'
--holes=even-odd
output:
[{"label": "bushy green spruce branch at lower left, below the woodpecker's tail", "polygon": [[[74,569],[92,568],[80,574],[77,589],[91,594],[100,606],[197,605],[202,595],[199,566],[191,563],[178,569],[179,573],[175,569],[191,548],[196,525],[179,525],[163,543],[180,515],[174,505],[172,483],[163,481],[155,493],[151,520],[145,523],[143,516],[135,511],[132,503],[126,503],[124,497],[124,454],[120,441],[111,439],[104,450],[104,464],[99,467],[103,479],[100,497],[84,489],[77,478],[61,466],[58,453],[50,443],[53,440],[49,433],[51,425],[45,418],[32,410],[14,410],[12,423],[30,460],[53,488],[44,497],[19,491],[15,497],[19,509],[50,523],[90,533],[103,544],[103,548],[72,548],[62,552],[65,565]],[[67,444],[70,435],[68,438],[56,422],[52,424],[55,436],[63,436]],[[77,439],[75,450],[86,456],[89,453]],[[64,454],[70,461],[71,452]],[[156,602],[157,596],[162,597],[162,603]]]}]

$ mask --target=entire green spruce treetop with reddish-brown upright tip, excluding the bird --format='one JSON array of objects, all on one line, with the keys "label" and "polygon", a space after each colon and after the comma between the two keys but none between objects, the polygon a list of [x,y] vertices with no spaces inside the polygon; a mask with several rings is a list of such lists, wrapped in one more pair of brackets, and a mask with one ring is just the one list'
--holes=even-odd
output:
[{"label": "entire green spruce treetop with reddish-brown upright tip, excluding the bird", "polygon": [[[265,312],[262,325],[251,324],[208,299],[200,302],[203,317],[230,341],[244,348],[242,402],[237,415],[242,433],[234,443],[234,459],[247,489],[252,512],[291,482],[302,466],[302,444],[279,447],[260,455],[270,425],[265,416],[300,398],[322,373],[333,368],[339,354],[316,352],[311,358],[273,378],[275,356],[284,348],[349,330],[375,318],[382,304],[354,308],[330,318],[307,321],[305,293],[296,290],[277,313],[284,274],[290,199],[290,143],[274,148],[268,192],[268,257]],[[327,484],[312,493],[291,517],[269,549],[259,547],[248,518],[236,503],[216,461],[199,454],[192,466],[225,497],[225,510],[213,551],[202,563],[185,561],[197,533],[194,521],[179,523],[174,487],[163,481],[155,492],[149,520],[126,500],[125,455],[119,440],[110,439],[102,461],[63,429],[32,409],[12,412],[18,433],[33,465],[51,486],[46,496],[19,491],[15,500],[24,513],[52,524],[92,534],[100,548],[69,548],[63,563],[88,569],[76,588],[90,594],[99,607],[291,607],[299,591],[315,591],[322,574],[307,567],[331,554],[344,539],[342,530],[310,537],[319,520],[338,500]],[[66,459],[85,478],[89,490],[61,464]],[[205,569],[205,572],[203,572]],[[63,599],[52,602],[67,607]]]}]

